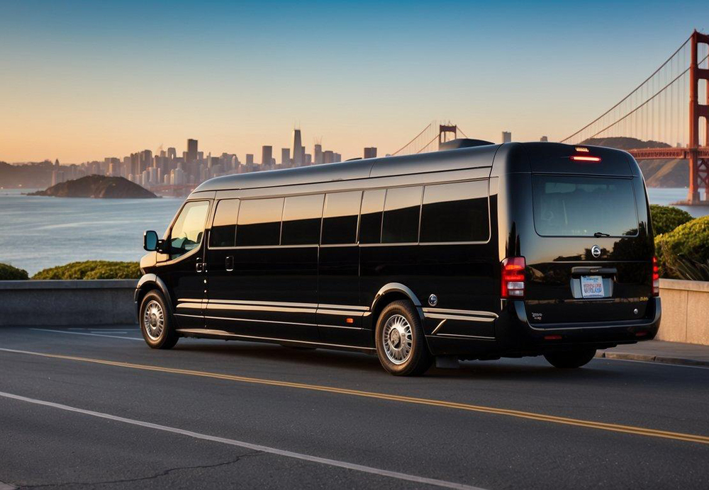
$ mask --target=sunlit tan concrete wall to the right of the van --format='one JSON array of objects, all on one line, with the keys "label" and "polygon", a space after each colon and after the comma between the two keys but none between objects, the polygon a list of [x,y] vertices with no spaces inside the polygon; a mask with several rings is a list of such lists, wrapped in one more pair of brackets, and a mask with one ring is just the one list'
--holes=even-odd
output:
[{"label": "sunlit tan concrete wall to the right of the van", "polygon": [[709,282],[660,279],[660,298],[657,340],[709,346]]}]

